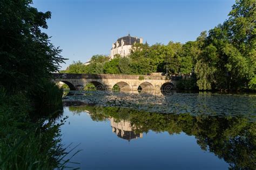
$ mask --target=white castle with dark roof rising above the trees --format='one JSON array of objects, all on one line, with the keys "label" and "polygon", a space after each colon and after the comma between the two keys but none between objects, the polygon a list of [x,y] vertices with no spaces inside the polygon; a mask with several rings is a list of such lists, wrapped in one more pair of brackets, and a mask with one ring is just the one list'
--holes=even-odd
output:
[{"label": "white castle with dark roof rising above the trees", "polygon": [[116,43],[112,44],[112,49],[110,51],[110,58],[114,58],[114,55],[119,54],[121,57],[130,55],[131,47],[135,43],[143,43],[142,38],[131,37],[130,33],[128,36],[118,38]]}]

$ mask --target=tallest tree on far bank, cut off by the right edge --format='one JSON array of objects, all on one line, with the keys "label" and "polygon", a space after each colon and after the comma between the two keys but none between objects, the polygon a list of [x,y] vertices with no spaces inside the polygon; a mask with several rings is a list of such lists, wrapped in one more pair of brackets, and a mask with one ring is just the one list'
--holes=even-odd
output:
[{"label": "tallest tree on far bank, cut off by the right edge", "polygon": [[241,56],[247,60],[250,72],[247,75],[249,87],[256,86],[256,2],[253,0],[237,0],[232,6],[227,25],[231,44],[238,49]]}]

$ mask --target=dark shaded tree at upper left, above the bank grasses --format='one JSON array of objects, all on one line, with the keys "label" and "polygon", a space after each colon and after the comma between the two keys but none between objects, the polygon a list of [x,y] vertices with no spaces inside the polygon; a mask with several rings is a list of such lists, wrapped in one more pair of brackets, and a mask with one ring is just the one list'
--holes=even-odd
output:
[{"label": "dark shaded tree at upper left, above the bank grasses", "polygon": [[42,32],[51,12],[38,12],[30,3],[0,1],[0,85],[8,92],[36,89],[64,63],[61,50]]}]

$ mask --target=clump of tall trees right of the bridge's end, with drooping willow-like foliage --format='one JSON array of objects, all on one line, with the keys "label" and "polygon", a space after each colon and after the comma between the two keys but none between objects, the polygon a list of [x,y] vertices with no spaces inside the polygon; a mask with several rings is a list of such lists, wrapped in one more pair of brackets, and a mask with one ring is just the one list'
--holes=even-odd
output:
[{"label": "clump of tall trees right of the bridge's end, with drooping willow-like foliage", "polygon": [[200,90],[240,90],[253,86],[256,72],[253,11],[255,1],[236,1],[224,24],[197,39],[201,52],[194,71]]}]

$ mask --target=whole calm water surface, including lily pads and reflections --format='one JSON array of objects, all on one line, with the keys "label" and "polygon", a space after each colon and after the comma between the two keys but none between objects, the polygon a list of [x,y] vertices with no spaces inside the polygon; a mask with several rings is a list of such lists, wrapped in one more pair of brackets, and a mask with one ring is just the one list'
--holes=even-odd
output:
[{"label": "whole calm water surface, including lily pads and reflections", "polygon": [[[76,93],[63,144],[81,169],[255,169],[256,96]],[[72,148],[71,146],[71,148]],[[75,153],[73,151],[72,153]],[[72,156],[70,153],[70,157]]]}]

